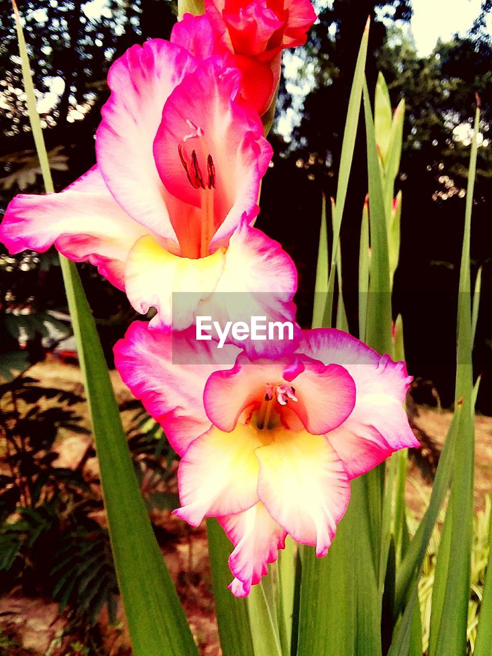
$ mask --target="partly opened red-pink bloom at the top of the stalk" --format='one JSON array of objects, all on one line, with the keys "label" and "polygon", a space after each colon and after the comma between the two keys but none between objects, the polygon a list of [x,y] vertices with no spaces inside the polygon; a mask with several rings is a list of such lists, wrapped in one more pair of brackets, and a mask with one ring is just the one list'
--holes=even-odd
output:
[{"label": "partly opened red-pink bloom at the top of the stalk", "polygon": [[171,40],[198,57],[230,52],[243,73],[243,96],[262,115],[277,89],[282,50],[306,43],[316,20],[311,1],[205,0],[205,12],[185,14]]}]

